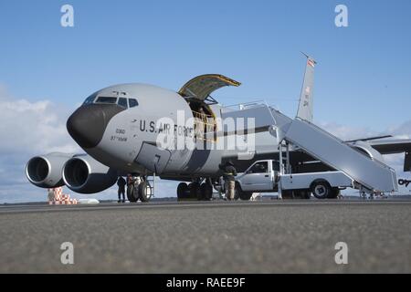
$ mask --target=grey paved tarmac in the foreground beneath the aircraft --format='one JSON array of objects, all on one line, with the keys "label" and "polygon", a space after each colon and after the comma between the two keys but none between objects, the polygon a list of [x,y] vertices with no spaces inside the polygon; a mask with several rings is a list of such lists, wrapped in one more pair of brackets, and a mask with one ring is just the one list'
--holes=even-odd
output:
[{"label": "grey paved tarmac in the foreground beneath the aircraft", "polygon": [[411,202],[8,206],[0,232],[2,273],[411,273]]}]

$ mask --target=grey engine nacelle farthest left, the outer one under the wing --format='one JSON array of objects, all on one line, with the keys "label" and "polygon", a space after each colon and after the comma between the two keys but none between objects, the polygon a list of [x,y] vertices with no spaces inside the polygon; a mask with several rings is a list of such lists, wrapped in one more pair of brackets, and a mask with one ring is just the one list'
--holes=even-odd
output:
[{"label": "grey engine nacelle farthest left, the outer one under the wing", "polygon": [[73,154],[58,152],[35,156],[26,164],[26,177],[30,183],[41,188],[63,186],[63,166],[71,157]]}]

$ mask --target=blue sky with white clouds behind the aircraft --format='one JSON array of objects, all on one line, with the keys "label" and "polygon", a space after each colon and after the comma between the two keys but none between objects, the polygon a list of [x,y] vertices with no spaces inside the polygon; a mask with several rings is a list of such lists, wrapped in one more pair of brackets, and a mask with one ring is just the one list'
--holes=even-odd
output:
[{"label": "blue sky with white clouds behind the aircraft", "polygon": [[[73,27],[60,24],[66,4]],[[347,27],[335,26],[336,5],[346,5]],[[342,139],[411,138],[410,14],[409,0],[1,0],[0,203],[44,198],[27,183],[25,163],[80,151],[65,123],[90,93],[127,82],[178,90],[218,73],[242,83],[218,90],[219,102],[264,99],[294,116],[300,51],[318,61],[317,124]],[[387,162],[400,170],[402,157]],[[158,185],[159,196],[174,195],[174,183]]]}]

